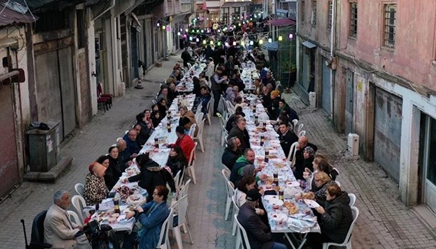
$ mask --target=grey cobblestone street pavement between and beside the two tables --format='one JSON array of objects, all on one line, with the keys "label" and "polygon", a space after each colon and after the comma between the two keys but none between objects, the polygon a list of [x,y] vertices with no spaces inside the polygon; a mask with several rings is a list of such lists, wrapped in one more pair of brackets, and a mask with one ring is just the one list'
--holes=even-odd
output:
[{"label": "grey cobblestone street pavement between and beside the two tables", "polygon": [[[17,191],[0,204],[0,249],[24,248],[24,235],[19,223],[25,219],[28,239],[35,214],[48,208],[53,193],[59,189],[74,192],[74,184],[84,182],[87,165],[107,153],[123,131],[134,122],[139,111],[149,107],[150,100],[158,91],[158,83],[169,75],[179,55],[163,62],[162,68],[153,68],[147,74],[145,89],[127,89],[125,96],[114,99],[113,108],[107,113],[99,111],[86,127],[62,144],[62,155],[73,157],[73,165],[55,183],[24,182]],[[327,154],[340,171],[338,181],[347,192],[356,194],[356,206],[360,216],[352,236],[353,248],[436,248],[436,240],[419,221],[412,210],[399,201],[397,185],[386,178],[374,163],[365,163],[343,156],[346,137],[338,135],[322,111],[307,108],[296,95],[287,95],[291,107],[296,109],[300,121],[305,124],[309,140],[318,145],[318,152]],[[184,248],[235,248],[231,235],[232,222],[224,221],[226,189],[221,174],[219,145],[219,121],[212,119],[212,126],[205,124],[205,153],[197,149],[195,163],[197,184],[189,190],[190,232],[183,234]],[[177,248],[171,239],[172,248]]]}]

